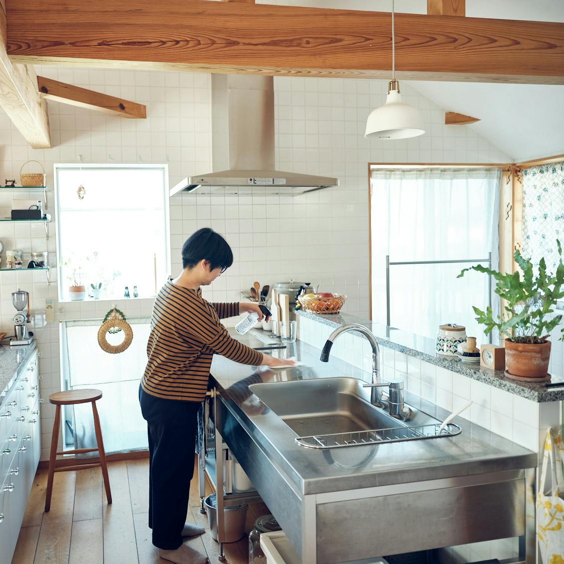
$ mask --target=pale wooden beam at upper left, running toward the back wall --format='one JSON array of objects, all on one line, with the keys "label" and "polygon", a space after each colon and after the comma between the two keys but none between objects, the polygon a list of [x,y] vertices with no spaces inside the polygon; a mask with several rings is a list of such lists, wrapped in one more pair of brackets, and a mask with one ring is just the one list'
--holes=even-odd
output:
[{"label": "pale wooden beam at upper left, running toward the back wall", "polygon": [[51,147],[47,104],[37,93],[35,71],[12,64],[6,53],[4,0],[0,0],[0,106],[33,148]]}]

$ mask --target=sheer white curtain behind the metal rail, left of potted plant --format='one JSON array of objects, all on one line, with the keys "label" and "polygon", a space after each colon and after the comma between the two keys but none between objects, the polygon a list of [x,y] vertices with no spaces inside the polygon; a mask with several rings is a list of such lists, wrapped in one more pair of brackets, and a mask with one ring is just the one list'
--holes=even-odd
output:
[{"label": "sheer white curtain behind the metal rail, left of potted plant", "polygon": [[[462,268],[499,265],[498,168],[373,168],[371,171],[372,319],[386,323],[386,255],[390,266],[390,325],[435,337],[443,323],[487,342],[472,306],[494,311],[489,277]],[[472,263],[459,261],[472,260]]]}]

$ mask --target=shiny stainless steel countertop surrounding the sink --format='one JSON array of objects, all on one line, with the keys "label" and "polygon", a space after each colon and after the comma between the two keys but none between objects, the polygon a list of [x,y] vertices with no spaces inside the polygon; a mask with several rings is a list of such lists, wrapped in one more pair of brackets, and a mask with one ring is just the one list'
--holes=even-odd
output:
[{"label": "shiny stainless steel countertop surrounding the sink", "polygon": [[[265,346],[254,337],[241,337],[232,329],[230,333],[246,345]],[[214,356],[211,376],[224,403],[299,496],[537,466],[536,453],[460,417],[453,422],[462,433],[452,438],[326,451],[298,446],[294,442],[297,435],[249,391],[249,385],[351,374],[369,382],[371,375],[336,358],[322,363],[318,349],[299,341],[272,354],[279,358],[296,356],[305,365],[271,371]],[[409,393],[406,403],[439,420],[448,415]]]}]

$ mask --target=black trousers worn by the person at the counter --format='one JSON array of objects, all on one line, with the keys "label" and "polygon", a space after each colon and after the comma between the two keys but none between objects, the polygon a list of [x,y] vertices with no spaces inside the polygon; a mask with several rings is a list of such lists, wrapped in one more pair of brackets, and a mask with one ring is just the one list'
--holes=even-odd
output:
[{"label": "black trousers worn by the person at the counter", "polygon": [[153,544],[165,550],[182,544],[194,473],[200,404],[156,398],[139,386],[149,437],[149,527]]}]

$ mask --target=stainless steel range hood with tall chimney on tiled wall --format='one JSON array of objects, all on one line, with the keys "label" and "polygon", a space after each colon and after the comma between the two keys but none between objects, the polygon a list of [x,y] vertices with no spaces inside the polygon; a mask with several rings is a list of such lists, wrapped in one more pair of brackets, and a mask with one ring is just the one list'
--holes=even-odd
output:
[{"label": "stainless steel range hood with tall chimney on tiled wall", "polygon": [[212,170],[170,189],[206,194],[298,195],[338,186],[337,178],[274,169],[274,81],[271,76],[211,75]]}]

